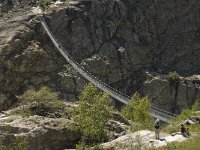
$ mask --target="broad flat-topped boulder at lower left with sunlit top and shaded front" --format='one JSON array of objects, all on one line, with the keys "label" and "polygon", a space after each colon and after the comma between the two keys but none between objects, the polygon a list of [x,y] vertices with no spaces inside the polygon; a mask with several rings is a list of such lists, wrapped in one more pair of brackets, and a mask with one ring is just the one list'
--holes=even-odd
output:
[{"label": "broad flat-topped boulder at lower left with sunlit top and shaded front", "polygon": [[80,133],[73,131],[73,122],[65,118],[46,118],[41,116],[10,116],[1,118],[1,137],[8,146],[16,137],[24,137],[30,150],[58,150],[74,148],[80,140]]}]

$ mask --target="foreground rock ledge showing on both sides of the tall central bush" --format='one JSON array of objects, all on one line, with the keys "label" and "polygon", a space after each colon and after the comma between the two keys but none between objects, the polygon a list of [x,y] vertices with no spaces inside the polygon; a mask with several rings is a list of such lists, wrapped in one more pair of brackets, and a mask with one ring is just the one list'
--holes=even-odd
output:
[{"label": "foreground rock ledge showing on both sides of the tall central bush", "polygon": [[[52,112],[51,109],[41,109],[41,106],[34,102],[4,111],[0,114],[0,149],[1,146],[7,146],[8,149],[9,145],[14,148],[16,145],[12,144],[17,139],[23,139],[28,150],[75,148],[82,135],[75,128],[76,123],[68,110],[76,106],[75,103],[64,103],[63,108],[57,108]],[[39,107],[40,112],[37,114],[40,115],[28,114],[35,107]],[[129,129],[130,123],[121,114],[113,112],[113,118],[108,121],[105,128],[106,141],[125,135]],[[20,144],[24,144],[24,141],[18,140]]]}]

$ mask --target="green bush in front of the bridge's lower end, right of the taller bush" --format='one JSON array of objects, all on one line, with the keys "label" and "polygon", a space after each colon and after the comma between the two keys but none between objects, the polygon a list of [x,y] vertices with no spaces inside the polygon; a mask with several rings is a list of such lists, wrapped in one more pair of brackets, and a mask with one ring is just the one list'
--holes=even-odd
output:
[{"label": "green bush in front of the bridge's lower end, right of the taller bush", "polygon": [[122,114],[133,122],[139,124],[134,124],[133,128],[151,128],[153,124],[151,114],[149,109],[151,107],[151,102],[148,97],[140,97],[139,93],[135,93],[128,104],[122,108]]}]

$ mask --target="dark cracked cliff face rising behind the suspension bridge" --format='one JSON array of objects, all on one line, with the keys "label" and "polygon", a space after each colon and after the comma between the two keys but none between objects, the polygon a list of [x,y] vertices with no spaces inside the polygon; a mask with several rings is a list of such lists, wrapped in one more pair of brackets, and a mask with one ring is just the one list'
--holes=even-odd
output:
[{"label": "dark cracked cliff face rising behind the suspension bridge", "polygon": [[[45,20],[72,57],[95,76],[171,109],[174,103],[164,105],[175,100],[170,83],[145,82],[145,72],[200,73],[199,11],[198,0],[66,1],[50,5]],[[67,65],[33,16],[1,23],[0,32],[2,100],[43,85],[76,99],[86,81]],[[168,88],[157,96],[161,85]],[[199,87],[192,86],[186,96],[186,89],[179,88],[179,99],[189,105],[199,98]]]}]

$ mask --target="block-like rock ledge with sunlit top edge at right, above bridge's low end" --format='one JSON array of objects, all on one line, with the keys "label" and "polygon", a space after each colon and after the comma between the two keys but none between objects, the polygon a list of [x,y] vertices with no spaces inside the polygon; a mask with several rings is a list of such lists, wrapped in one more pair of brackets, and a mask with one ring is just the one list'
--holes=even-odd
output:
[{"label": "block-like rock ledge with sunlit top edge at right, above bridge's low end", "polygon": [[200,80],[199,76],[182,78],[177,81],[177,86],[171,84],[167,76],[155,73],[148,73],[147,76],[143,91],[156,106],[180,113],[200,98],[200,85],[195,83]]}]

